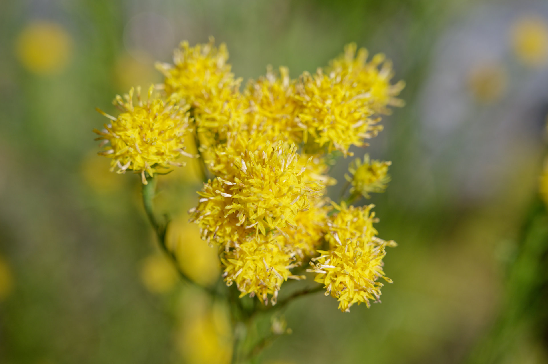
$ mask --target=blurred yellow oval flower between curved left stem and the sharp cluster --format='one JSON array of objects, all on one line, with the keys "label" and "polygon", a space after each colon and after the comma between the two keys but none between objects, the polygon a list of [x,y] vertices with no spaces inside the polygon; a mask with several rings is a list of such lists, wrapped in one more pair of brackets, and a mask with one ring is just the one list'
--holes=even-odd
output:
[{"label": "blurred yellow oval flower between curved left stem and the sharp cluster", "polygon": [[202,285],[212,285],[219,278],[220,263],[217,249],[200,238],[199,227],[180,216],[170,222],[166,234],[168,249],[173,251],[180,269]]}]

